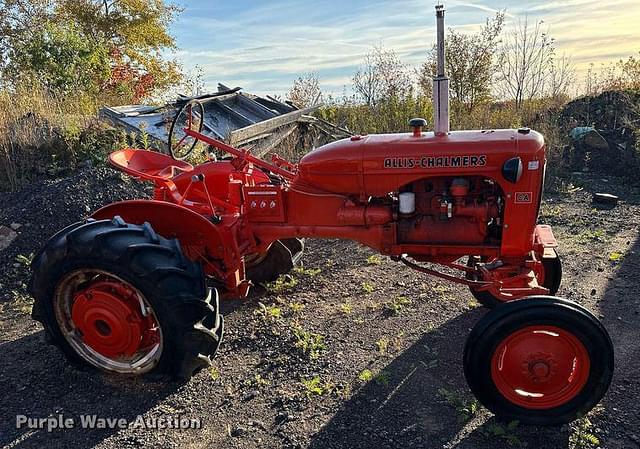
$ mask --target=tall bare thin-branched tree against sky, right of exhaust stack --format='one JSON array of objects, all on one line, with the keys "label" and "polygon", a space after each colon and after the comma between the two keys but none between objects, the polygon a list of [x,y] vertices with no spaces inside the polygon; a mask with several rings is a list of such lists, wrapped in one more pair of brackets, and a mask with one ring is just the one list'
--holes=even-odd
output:
[{"label": "tall bare thin-branched tree against sky, right of exhaust stack", "polygon": [[505,97],[520,109],[525,100],[545,93],[553,69],[555,40],[543,30],[543,21],[531,25],[519,20],[508,33],[499,58],[498,81]]}]

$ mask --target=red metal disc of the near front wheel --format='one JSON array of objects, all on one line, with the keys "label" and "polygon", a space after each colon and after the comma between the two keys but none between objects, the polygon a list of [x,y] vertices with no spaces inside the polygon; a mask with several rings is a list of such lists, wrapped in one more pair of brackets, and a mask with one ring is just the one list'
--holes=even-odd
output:
[{"label": "red metal disc of the near front wheel", "polygon": [[589,378],[590,358],[572,333],[528,326],[507,336],[491,360],[491,376],[510,402],[528,409],[559,407],[575,398]]}]

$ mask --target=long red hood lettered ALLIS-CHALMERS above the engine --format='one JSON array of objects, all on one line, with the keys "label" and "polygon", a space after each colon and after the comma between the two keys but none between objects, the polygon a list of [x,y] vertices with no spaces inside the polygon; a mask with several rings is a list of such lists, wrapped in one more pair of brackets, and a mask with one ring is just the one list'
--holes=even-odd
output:
[{"label": "long red hood lettered ALLIS-CHALMERS above the engine", "polygon": [[[383,196],[431,176],[500,178],[519,156],[524,167],[544,166],[544,139],[529,129],[355,136],[307,154],[295,184],[346,195]],[[531,165],[528,165],[531,163]]]}]

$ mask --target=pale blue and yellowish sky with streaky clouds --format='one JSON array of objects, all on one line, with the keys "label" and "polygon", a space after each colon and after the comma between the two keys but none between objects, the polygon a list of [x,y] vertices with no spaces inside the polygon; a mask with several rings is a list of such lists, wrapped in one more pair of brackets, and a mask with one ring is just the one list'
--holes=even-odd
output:
[{"label": "pale blue and yellowish sky with streaky clouds", "polygon": [[[435,41],[435,0],[181,0],[172,26],[185,69],[246,91],[286,94],[315,73],[323,92],[349,93],[351,78],[374,45],[419,67]],[[474,32],[506,10],[507,29],[525,16],[543,20],[570,56],[580,81],[591,63],[640,52],[640,0],[448,0],[447,27]],[[346,89],[346,90],[345,90]]]}]

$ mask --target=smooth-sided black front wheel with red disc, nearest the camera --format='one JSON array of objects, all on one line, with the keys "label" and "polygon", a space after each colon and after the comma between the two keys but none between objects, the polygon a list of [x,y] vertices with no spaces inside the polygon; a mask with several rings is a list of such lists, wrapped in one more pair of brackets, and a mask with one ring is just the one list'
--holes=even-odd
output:
[{"label": "smooth-sided black front wheel with red disc, nearest the camera", "polygon": [[489,312],[472,330],[464,372],[498,418],[536,425],[573,421],[606,393],[613,345],[586,309],[560,298],[531,297]]}]

